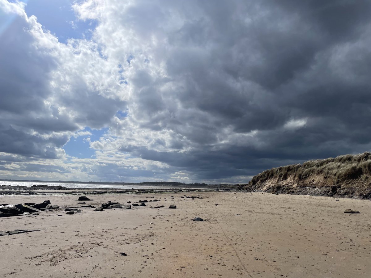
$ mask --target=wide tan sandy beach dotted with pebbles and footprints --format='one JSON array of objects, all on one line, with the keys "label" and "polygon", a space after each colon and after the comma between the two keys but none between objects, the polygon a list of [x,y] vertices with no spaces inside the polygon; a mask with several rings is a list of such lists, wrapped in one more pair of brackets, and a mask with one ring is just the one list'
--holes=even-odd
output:
[{"label": "wide tan sandy beach dotted with pebbles and footprints", "polygon": [[[89,195],[95,201],[86,204],[152,196],[161,201],[72,215],[64,208],[81,206],[76,195],[1,196],[9,204],[49,199],[60,209],[0,218],[1,231],[41,230],[0,236],[0,276],[370,277],[370,201],[184,192]],[[361,213],[344,214],[347,208]],[[197,216],[204,222],[192,221]]]}]

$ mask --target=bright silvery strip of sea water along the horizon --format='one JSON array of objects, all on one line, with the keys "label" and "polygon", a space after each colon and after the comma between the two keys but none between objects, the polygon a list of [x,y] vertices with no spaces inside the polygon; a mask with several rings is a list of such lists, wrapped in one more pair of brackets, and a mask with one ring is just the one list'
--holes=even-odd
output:
[{"label": "bright silvery strip of sea water along the horizon", "polygon": [[82,184],[82,183],[64,183],[64,182],[26,182],[26,181],[0,181],[0,189],[2,185],[10,185],[10,186],[29,186],[32,185],[48,185],[48,186],[64,186],[67,188],[104,188],[104,189],[139,189],[139,188],[158,188],[158,189],[168,189],[174,188],[174,186],[151,186],[151,185],[115,185],[115,184],[98,184],[98,183],[89,183],[89,184]]}]

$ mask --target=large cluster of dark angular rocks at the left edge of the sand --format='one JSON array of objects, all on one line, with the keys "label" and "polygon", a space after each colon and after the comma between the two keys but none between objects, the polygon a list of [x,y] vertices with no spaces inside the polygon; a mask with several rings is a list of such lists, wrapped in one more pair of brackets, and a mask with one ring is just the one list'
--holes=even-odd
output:
[{"label": "large cluster of dark angular rocks at the left edge of the sand", "polygon": [[0,217],[20,216],[31,213],[37,215],[41,211],[49,211],[58,208],[58,205],[52,205],[49,200],[42,203],[2,204],[0,206]]}]

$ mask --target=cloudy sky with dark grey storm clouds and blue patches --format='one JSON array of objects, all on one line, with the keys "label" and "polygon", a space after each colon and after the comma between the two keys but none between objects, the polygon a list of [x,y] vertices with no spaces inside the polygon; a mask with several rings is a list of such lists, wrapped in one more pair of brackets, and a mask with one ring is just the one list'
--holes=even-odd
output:
[{"label": "cloudy sky with dark grey storm clouds and blue patches", "polygon": [[369,0],[0,0],[0,179],[247,183],[371,150]]}]

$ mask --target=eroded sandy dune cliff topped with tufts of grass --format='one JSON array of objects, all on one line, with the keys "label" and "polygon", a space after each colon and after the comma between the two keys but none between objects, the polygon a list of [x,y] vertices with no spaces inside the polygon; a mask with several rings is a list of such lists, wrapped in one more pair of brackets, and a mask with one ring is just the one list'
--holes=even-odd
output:
[{"label": "eroded sandy dune cliff topped with tufts of grass", "polygon": [[342,155],[266,170],[244,191],[371,199],[371,153]]}]

